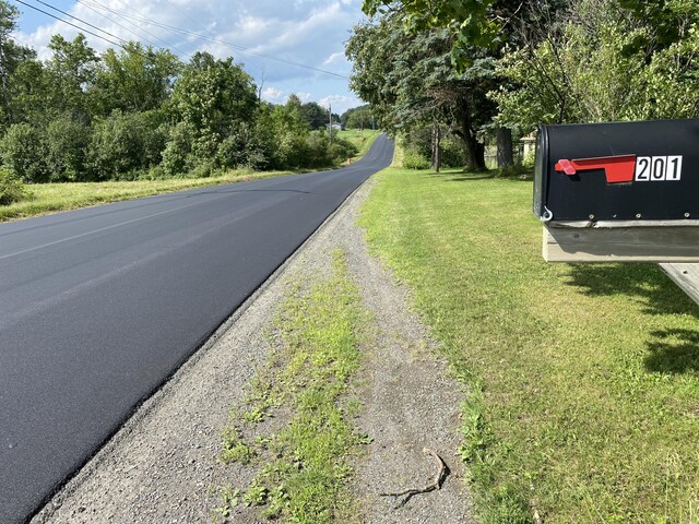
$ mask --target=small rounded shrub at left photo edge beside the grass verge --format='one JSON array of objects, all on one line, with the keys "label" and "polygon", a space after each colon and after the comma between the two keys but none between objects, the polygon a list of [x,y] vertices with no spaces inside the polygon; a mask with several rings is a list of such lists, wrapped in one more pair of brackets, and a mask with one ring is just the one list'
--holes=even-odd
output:
[{"label": "small rounded shrub at left photo edge beside the grass verge", "polygon": [[46,143],[43,133],[27,123],[10,126],[2,142],[0,155],[4,165],[25,182],[47,182]]}]

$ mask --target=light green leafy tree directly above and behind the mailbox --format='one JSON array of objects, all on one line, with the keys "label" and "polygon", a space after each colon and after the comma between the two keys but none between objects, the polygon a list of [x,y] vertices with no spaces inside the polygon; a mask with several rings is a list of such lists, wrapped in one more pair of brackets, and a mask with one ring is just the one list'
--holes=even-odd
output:
[{"label": "light green leafy tree directly above and behind the mailbox", "polygon": [[655,27],[616,0],[576,0],[556,23],[541,15],[525,46],[500,61],[506,82],[491,94],[500,121],[529,132],[540,123],[698,115],[699,38],[688,26],[666,47],[631,51]]}]

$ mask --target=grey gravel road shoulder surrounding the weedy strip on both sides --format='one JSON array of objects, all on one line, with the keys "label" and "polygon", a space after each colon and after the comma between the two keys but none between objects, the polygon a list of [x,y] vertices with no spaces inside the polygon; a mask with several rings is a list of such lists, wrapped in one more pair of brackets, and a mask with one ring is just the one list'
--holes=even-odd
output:
[{"label": "grey gravel road shoulder surrounding the weedy strip on both sides", "polygon": [[[149,400],[114,439],[34,519],[42,523],[210,522],[222,520],[221,487],[246,486],[253,471],[223,465],[221,430],[248,381],[264,365],[272,325],[287,289],[329,272],[336,249],[372,313],[374,343],[352,395],[363,403],[354,422],[368,434],[356,461],[353,493],[359,522],[472,522],[459,445],[459,384],[410,311],[406,291],[367,253],[356,226],[369,183],[360,188],[241,310]],[[398,500],[381,492],[423,488],[437,473],[430,448],[450,474],[442,489]],[[232,522],[260,522],[234,511]]]}]

